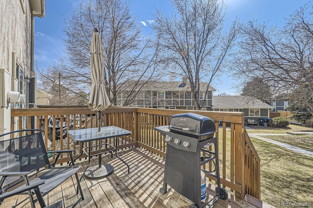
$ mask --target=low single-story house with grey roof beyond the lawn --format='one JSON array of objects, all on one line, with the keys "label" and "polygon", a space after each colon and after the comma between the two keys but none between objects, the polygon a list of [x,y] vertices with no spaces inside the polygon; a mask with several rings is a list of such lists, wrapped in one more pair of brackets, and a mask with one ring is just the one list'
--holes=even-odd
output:
[{"label": "low single-story house with grey roof beyond the lawn", "polygon": [[244,112],[245,120],[259,120],[269,118],[269,111],[273,108],[259,99],[249,96],[213,96],[214,111]]}]

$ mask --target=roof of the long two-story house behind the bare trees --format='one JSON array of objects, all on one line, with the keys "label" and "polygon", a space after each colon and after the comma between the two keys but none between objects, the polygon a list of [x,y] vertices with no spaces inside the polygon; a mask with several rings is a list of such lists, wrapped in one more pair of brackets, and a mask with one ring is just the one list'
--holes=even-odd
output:
[{"label": "roof of the long two-story house behind the bare trees", "polygon": [[[120,90],[132,90],[136,81],[127,81],[126,83],[122,83],[120,86]],[[160,82],[160,81],[139,81],[139,86],[144,84],[144,87],[140,90],[148,90],[148,91],[191,91],[189,82],[183,86],[183,82]],[[179,87],[179,85],[181,87]],[[183,87],[182,87],[183,86]],[[201,91],[205,91],[207,87],[207,83],[201,82],[200,89]],[[215,91],[213,87],[209,86],[208,91]]]}]

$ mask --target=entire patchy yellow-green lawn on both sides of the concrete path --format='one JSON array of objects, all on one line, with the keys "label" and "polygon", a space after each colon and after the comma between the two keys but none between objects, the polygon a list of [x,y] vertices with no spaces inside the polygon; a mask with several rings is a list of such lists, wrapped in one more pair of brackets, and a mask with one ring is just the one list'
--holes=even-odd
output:
[{"label": "entire patchy yellow-green lawn on both sides of the concrete path", "polygon": [[[247,129],[247,132],[286,133],[312,130],[299,125],[290,125],[287,128],[256,126],[254,129]],[[263,137],[313,151],[313,137]],[[261,200],[275,207],[283,207],[282,202],[307,202],[313,206],[313,158],[255,138],[251,138],[251,141],[261,158]]]}]

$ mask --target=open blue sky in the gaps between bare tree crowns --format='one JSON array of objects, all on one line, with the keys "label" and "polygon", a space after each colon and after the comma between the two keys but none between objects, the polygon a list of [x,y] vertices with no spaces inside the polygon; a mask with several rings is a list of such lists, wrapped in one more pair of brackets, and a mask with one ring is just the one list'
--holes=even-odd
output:
[{"label": "open blue sky in the gaps between bare tree crowns", "polygon": [[[63,53],[64,44],[60,37],[63,36],[63,17],[68,16],[79,0],[45,0],[45,18],[35,18],[35,52],[34,61],[41,67],[51,64]],[[284,24],[284,18],[288,17],[301,5],[309,2],[305,0],[224,0],[228,6],[226,24],[237,16],[242,23],[249,20],[269,21],[270,24]],[[132,0],[131,9],[139,16],[138,24],[143,32],[148,34],[149,21],[153,21],[155,7],[171,12],[170,3],[167,0]],[[233,89],[233,80],[224,75],[221,82],[217,81],[213,87],[214,93],[237,94]]]}]

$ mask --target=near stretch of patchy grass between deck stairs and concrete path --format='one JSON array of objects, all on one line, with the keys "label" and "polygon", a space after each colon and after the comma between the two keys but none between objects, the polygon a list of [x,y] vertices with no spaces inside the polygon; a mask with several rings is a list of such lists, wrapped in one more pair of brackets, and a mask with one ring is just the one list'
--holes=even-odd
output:
[{"label": "near stretch of patchy grass between deck stairs and concrete path", "polygon": [[275,207],[282,202],[313,205],[313,158],[251,140],[261,158],[261,200]]}]

